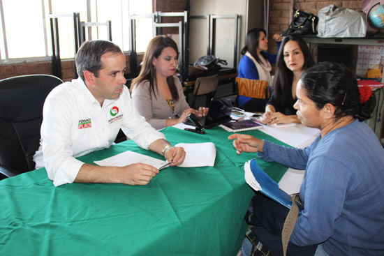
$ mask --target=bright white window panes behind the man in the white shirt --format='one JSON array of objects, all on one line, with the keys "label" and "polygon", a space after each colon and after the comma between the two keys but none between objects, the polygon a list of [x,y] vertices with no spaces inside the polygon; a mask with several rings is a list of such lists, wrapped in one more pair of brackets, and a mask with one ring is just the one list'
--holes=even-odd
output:
[{"label": "bright white window panes behind the man in the white shirt", "polygon": [[[0,61],[15,63],[52,55],[51,13],[59,24],[61,59],[75,57],[73,13],[80,13],[81,22],[110,20],[112,41],[124,51],[131,50],[129,15],[152,13],[152,0],[0,0],[0,10]],[[145,51],[152,30],[152,19],[136,22],[138,52]],[[87,29],[86,40],[90,39],[108,39],[107,27]]]}]

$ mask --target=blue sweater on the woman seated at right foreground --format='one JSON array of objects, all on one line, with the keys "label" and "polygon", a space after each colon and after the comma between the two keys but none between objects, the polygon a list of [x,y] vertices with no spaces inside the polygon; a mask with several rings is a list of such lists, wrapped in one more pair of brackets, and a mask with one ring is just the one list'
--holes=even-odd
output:
[{"label": "blue sweater on the woman seated at right foreground", "polygon": [[384,255],[384,149],[367,124],[355,120],[305,149],[265,141],[263,152],[306,170],[291,242],[323,243],[330,255]]}]

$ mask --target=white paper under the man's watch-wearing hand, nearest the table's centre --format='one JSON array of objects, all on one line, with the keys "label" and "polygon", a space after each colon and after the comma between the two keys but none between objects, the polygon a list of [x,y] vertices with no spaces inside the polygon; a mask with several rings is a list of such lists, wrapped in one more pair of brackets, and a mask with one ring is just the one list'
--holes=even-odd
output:
[{"label": "white paper under the man's watch-wearing hand, nearest the table's centre", "polygon": [[186,151],[184,163],[179,167],[214,166],[216,147],[212,142],[205,143],[179,143]]}]

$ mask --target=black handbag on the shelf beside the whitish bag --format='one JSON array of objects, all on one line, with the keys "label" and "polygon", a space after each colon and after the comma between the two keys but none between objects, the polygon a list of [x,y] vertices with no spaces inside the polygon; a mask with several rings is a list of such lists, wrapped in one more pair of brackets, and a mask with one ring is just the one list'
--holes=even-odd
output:
[{"label": "black handbag on the shelf beside the whitish bag", "polygon": [[300,9],[293,9],[293,20],[288,29],[282,33],[283,36],[290,34],[316,35],[318,17],[313,13],[306,13]]}]

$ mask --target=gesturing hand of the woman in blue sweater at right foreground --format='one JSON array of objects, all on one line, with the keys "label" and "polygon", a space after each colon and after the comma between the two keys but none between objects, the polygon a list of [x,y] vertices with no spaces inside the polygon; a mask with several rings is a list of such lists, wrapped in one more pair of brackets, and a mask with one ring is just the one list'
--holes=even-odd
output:
[{"label": "gesturing hand of the woman in blue sweater at right foreground", "polygon": [[242,152],[263,152],[264,141],[251,135],[235,133],[228,140],[234,140],[233,147],[238,155]]}]

